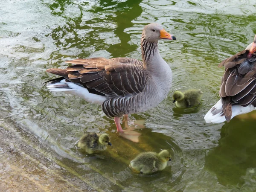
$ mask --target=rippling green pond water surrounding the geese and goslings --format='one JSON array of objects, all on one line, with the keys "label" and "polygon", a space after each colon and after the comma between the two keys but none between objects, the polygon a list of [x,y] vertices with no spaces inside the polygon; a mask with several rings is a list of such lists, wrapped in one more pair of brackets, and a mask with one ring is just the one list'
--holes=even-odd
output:
[{"label": "rippling green pond water surrounding the geese and goslings", "polygon": [[[252,0],[1,0],[0,118],[34,134],[63,158],[72,174],[99,191],[256,191],[256,116],[206,124],[218,101],[223,59],[244,49],[256,34]],[[88,57],[141,58],[140,35],[161,23],[177,41],[160,41],[173,70],[169,97],[131,121],[145,120],[140,143],[118,137],[113,119],[97,105],[50,93],[45,70]],[[177,89],[201,88],[203,104],[181,111]],[[104,159],[86,156],[75,143],[83,132],[107,132]],[[141,151],[168,149],[169,166],[141,177],[128,163]]]}]

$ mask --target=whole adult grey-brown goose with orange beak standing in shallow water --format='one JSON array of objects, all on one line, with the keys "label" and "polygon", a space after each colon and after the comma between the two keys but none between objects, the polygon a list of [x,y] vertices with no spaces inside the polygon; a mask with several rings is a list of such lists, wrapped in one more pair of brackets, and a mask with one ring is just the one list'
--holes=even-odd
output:
[{"label": "whole adult grey-brown goose with orange beak standing in shallow water", "polygon": [[124,134],[120,117],[147,111],[157,106],[169,93],[172,70],[159,54],[157,41],[160,39],[176,40],[160,24],[148,24],[140,41],[143,61],[133,58],[66,61],[75,65],[46,70],[61,76],[50,80],[47,87],[51,91],[65,91],[87,102],[102,105],[103,112],[108,117],[114,117],[117,131],[138,142],[137,132]]}]

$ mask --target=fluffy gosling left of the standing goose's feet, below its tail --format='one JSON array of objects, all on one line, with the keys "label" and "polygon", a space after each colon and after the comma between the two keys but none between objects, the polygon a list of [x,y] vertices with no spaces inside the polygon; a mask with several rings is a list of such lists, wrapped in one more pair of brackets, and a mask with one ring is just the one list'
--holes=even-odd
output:
[{"label": "fluffy gosling left of the standing goose's feet, below its tail", "polygon": [[107,145],[112,145],[108,134],[98,135],[96,133],[87,133],[83,135],[78,142],[78,146],[84,149],[88,154],[104,151],[106,150]]}]

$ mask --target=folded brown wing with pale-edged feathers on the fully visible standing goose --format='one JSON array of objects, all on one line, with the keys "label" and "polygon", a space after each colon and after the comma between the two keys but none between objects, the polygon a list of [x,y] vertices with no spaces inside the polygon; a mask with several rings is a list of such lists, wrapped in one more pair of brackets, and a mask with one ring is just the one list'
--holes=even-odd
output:
[{"label": "folded brown wing with pale-edged feathers on the fully visible standing goose", "polygon": [[89,92],[117,98],[134,96],[143,91],[149,73],[143,62],[130,58],[75,59],[66,63],[76,64],[47,72],[63,76],[68,81],[88,88]]}]

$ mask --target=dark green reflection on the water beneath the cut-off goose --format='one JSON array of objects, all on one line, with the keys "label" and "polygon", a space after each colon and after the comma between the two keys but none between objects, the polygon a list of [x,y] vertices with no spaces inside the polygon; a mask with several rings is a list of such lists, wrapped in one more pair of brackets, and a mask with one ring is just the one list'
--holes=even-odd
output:
[{"label": "dark green reflection on the water beneath the cut-off goose", "polygon": [[205,168],[214,172],[223,185],[243,186],[245,175],[256,176],[255,119],[241,121],[236,118],[221,128],[218,146],[207,154]]}]

